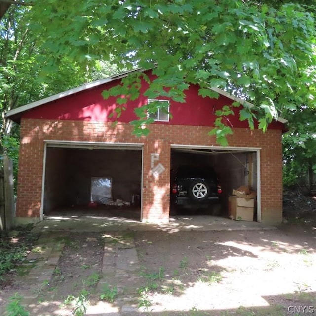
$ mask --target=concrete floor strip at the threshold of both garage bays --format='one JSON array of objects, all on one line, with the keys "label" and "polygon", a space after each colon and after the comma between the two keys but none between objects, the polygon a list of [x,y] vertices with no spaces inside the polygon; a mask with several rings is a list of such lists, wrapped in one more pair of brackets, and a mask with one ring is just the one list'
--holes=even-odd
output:
[{"label": "concrete floor strip at the threshold of both garage bays", "polygon": [[140,221],[116,217],[116,216],[97,216],[84,213],[63,213],[62,215],[51,215],[44,217],[38,223],[33,232],[113,232],[113,231],[165,231],[175,233],[180,230],[200,230],[200,231],[222,231],[222,230],[262,230],[273,229],[276,227],[264,225],[257,222],[233,221],[228,218],[215,217],[209,215],[201,216],[173,216],[169,223],[150,224]]}]

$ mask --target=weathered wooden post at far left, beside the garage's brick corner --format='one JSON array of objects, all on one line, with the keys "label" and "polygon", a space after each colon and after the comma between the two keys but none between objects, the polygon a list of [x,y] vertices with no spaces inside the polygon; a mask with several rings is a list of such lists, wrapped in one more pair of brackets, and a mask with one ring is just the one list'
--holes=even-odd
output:
[{"label": "weathered wooden post at far left, beside the garage's brick corner", "polygon": [[14,226],[14,187],[13,187],[13,164],[7,155],[3,158],[3,176],[4,176],[4,221],[5,229],[9,230]]}]

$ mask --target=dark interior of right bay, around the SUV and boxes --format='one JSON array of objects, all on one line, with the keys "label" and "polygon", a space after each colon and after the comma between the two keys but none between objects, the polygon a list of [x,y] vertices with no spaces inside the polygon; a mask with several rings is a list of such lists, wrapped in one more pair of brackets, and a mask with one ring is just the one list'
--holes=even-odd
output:
[{"label": "dark interior of right bay, around the SUV and boxes", "polygon": [[[205,148],[172,148],[171,174],[172,185],[174,174],[181,165],[205,166],[212,168],[219,179],[223,190],[221,196],[220,216],[229,216],[229,197],[233,189],[247,186],[257,191],[257,152],[247,150],[220,150]],[[254,221],[257,221],[257,201],[254,201]],[[170,215],[212,215],[211,209],[181,209],[170,202]]]}]

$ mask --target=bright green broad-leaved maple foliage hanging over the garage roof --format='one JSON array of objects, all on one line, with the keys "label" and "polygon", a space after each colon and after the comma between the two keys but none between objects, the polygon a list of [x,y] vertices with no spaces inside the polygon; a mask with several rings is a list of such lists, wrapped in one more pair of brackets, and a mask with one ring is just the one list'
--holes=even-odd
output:
[{"label": "bright green broad-leaved maple foliage hanging over the garage roof", "polygon": [[[149,98],[184,102],[191,83],[203,97],[222,88],[253,103],[240,119],[250,128],[257,119],[265,131],[279,113],[315,107],[315,13],[312,1],[36,1],[30,27],[47,52],[43,76],[64,56],[86,66],[111,55],[119,68],[153,69]],[[149,81],[133,73],[104,97],[137,98],[140,77]],[[149,123],[143,110],[136,132]],[[221,119],[226,112],[211,132],[221,143],[232,132]]]}]

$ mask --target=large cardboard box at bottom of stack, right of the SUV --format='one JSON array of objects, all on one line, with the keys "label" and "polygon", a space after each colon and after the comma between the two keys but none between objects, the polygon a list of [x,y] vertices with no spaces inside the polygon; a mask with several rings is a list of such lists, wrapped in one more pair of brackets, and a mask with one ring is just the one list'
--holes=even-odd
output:
[{"label": "large cardboard box at bottom of stack, right of the SUV", "polygon": [[[230,196],[229,202],[229,217],[240,221],[253,221],[254,200],[246,200],[242,197]],[[245,207],[243,205],[252,205]]]}]

